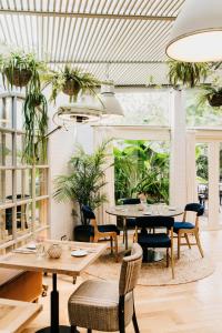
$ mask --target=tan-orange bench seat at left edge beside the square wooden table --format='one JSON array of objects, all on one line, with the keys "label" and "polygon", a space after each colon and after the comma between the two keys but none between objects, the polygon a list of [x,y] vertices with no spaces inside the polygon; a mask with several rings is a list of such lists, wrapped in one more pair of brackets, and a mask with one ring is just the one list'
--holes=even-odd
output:
[{"label": "tan-orange bench seat at left edge beside the square wooden table", "polygon": [[0,268],[0,297],[33,302],[42,292],[42,273]]}]

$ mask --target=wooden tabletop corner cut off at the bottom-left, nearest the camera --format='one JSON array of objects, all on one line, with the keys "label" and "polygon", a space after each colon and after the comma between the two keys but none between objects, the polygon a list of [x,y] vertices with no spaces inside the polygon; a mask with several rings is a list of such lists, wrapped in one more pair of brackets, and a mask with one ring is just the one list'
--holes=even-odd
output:
[{"label": "wooden tabletop corner cut off at the bottom-left, nearest the camera", "polygon": [[0,299],[0,333],[18,333],[42,310],[42,305]]}]

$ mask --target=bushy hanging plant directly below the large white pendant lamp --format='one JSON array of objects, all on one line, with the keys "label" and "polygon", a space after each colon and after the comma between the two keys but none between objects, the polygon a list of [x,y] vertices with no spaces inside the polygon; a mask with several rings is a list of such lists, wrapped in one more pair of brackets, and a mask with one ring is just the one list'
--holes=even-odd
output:
[{"label": "bushy hanging plant directly below the large white pendant lamp", "polygon": [[169,61],[169,81],[173,87],[180,84],[194,88],[206,79],[210,67],[206,62]]}]

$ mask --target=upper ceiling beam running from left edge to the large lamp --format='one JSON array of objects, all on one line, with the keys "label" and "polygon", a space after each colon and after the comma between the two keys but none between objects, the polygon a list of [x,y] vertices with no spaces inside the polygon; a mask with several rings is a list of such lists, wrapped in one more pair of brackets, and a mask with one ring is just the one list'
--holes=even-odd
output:
[{"label": "upper ceiling beam running from left edge to the large lamp", "polygon": [[38,17],[62,17],[81,19],[109,19],[109,20],[141,20],[141,21],[174,21],[176,17],[168,16],[132,16],[132,14],[103,14],[83,12],[56,12],[38,10],[0,9],[0,14],[38,16]]}]

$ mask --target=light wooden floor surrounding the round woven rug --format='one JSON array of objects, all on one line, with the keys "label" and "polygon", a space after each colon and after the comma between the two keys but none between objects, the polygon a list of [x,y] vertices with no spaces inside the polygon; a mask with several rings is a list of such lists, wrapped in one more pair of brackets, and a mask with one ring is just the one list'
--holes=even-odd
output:
[{"label": "light wooden floor surrounding the round woven rug", "polygon": [[[202,232],[201,240],[204,252],[215,262],[214,274],[183,285],[138,286],[135,309],[141,333],[222,333],[222,231]],[[46,283],[51,286],[51,279],[47,278]],[[70,278],[60,278],[62,324],[68,324],[67,302],[74,289]],[[22,333],[48,325],[49,295],[40,302],[42,313]],[[133,332],[131,325],[127,329],[130,332]]]}]

